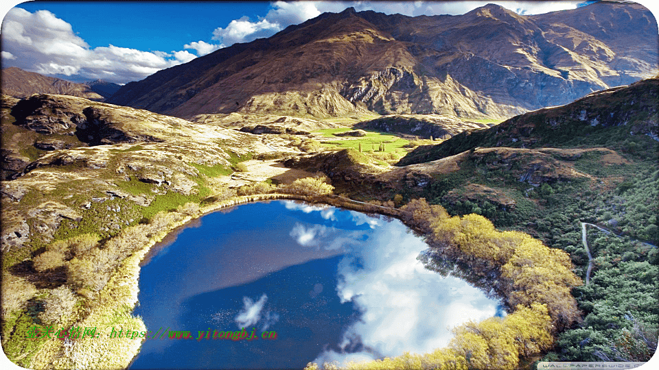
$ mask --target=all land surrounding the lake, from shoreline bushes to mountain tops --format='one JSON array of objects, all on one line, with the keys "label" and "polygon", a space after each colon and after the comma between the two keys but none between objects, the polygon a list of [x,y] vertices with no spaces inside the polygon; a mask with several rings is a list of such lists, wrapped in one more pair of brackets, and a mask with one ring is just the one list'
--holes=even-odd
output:
[{"label": "all land surrounding the lake, from shoreline bushes to mountain tops", "polygon": [[[557,13],[348,8],[107,97],[14,91],[3,77],[5,354],[30,369],[125,369],[140,338],[28,332],[147,330],[134,309],[154,245],[222,208],[290,199],[400,220],[428,245],[417,258],[426,269],[507,311],[457,325],[435,351],[342,369],[649,360],[656,21],[632,3]],[[307,369],[323,367],[312,360]]]}]

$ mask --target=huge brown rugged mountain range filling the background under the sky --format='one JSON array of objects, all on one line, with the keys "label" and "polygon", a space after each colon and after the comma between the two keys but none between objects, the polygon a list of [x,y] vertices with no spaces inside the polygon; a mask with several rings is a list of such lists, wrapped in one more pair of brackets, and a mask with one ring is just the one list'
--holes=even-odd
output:
[{"label": "huge brown rugged mountain range filling the background under the sky", "polygon": [[493,4],[459,16],[349,8],[159,71],[108,102],[186,118],[376,112],[505,119],[651,77],[658,33],[652,14],[634,3],[537,16]]}]

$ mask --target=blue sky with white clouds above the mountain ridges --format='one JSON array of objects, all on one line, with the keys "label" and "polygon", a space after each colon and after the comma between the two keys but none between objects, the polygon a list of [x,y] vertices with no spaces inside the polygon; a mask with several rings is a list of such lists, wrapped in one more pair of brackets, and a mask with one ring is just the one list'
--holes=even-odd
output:
[{"label": "blue sky with white clouds above the mountain ridges", "polygon": [[349,6],[417,16],[464,14],[486,3],[540,14],[576,8],[584,1],[32,1],[3,18],[2,66],[74,82],[125,84]]}]

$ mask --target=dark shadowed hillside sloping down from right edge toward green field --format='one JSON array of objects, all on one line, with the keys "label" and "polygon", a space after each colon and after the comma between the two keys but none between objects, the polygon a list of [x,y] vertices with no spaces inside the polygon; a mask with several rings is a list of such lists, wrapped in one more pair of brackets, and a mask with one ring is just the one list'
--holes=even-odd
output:
[{"label": "dark shadowed hillside sloping down from right edge toward green field", "polygon": [[[461,132],[438,145],[418,147],[397,165],[406,166],[454,156],[477,147],[581,147],[603,145],[645,151],[640,137],[659,141],[659,77],[601,90],[565,106],[515,116],[487,130]],[[625,141],[626,140],[626,141]],[[632,144],[636,143],[636,144]]]}]

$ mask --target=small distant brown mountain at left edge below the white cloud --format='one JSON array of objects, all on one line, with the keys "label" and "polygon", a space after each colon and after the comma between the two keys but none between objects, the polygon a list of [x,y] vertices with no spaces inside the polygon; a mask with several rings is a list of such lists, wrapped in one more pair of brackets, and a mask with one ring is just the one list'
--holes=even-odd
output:
[{"label": "small distant brown mountain at left edge below the white cloud", "polygon": [[12,97],[29,97],[32,94],[59,94],[103,101],[105,97],[86,84],[76,84],[65,79],[47,77],[20,68],[2,69],[2,93]]}]

